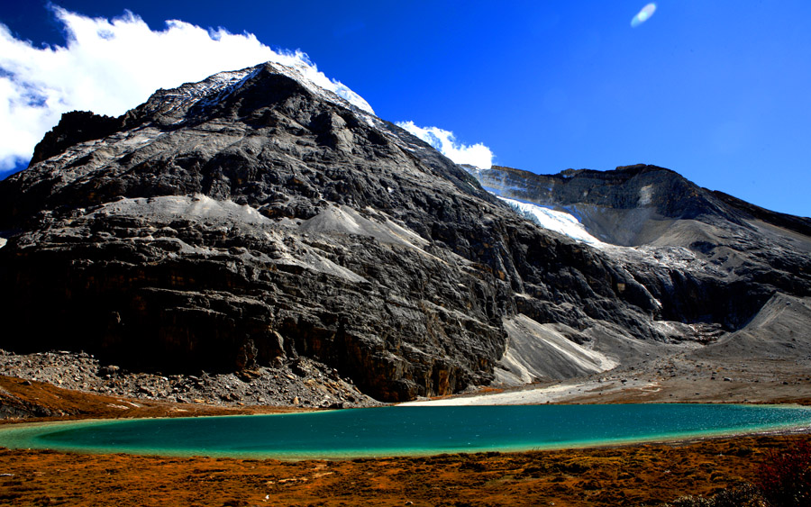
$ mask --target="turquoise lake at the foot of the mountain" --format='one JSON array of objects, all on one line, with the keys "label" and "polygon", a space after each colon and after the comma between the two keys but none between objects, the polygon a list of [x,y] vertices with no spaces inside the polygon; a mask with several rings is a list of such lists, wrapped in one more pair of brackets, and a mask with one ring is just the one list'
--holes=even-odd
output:
[{"label": "turquoise lake at the foot of the mountain", "polygon": [[570,448],[811,427],[811,408],[615,404],[385,407],[0,428],[0,446],[165,456],[384,457]]}]

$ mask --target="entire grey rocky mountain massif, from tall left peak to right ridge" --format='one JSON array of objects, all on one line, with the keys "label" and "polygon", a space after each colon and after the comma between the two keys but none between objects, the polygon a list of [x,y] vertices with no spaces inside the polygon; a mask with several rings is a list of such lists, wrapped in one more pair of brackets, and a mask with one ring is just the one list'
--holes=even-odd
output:
[{"label": "entire grey rocky mountain massif, from tall left peak to right ridge", "polygon": [[306,359],[404,401],[783,343],[764,309],[811,295],[807,219],[660,167],[460,167],[364,104],[266,63],[63,115],[0,182],[0,347],[177,374]]}]

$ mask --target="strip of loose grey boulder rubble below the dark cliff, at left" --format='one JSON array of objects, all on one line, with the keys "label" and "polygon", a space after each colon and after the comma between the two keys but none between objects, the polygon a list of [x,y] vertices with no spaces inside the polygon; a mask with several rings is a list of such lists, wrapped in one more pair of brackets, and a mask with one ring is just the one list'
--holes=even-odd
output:
[{"label": "strip of loose grey boulder rubble below the dark cliff, at left", "polygon": [[[0,350],[0,375],[44,382],[71,391],[171,403],[312,408],[380,404],[361,394],[350,379],[342,378],[336,370],[308,358],[297,358],[277,367],[257,366],[231,373],[201,371],[197,375],[163,375],[162,372],[127,371],[117,365],[102,365],[85,352],[11,354]],[[0,399],[0,418],[14,415],[4,412],[9,405]]]}]

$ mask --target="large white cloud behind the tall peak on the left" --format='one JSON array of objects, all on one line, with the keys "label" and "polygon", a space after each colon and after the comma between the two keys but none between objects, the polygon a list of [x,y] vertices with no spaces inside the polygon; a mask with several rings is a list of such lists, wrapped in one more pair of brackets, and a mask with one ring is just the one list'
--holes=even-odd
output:
[{"label": "large white cloud behind the tall peak on the left", "polygon": [[130,12],[108,20],[52,10],[67,33],[64,47],[37,48],[0,24],[0,171],[31,158],[61,113],[118,116],[158,88],[265,61],[295,66],[316,85],[372,112],[360,95],[324,76],[304,53],[271,50],[251,33],[205,30],[177,20],[152,31]]}]

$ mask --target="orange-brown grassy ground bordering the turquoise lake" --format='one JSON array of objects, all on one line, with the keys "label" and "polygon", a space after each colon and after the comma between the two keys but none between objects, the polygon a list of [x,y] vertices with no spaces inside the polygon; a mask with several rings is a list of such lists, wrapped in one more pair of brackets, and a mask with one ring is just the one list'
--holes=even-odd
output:
[{"label": "orange-brown grassy ground bordering the turquoise lake", "polygon": [[[759,386],[768,387],[764,382]],[[763,395],[753,402],[811,404],[811,397],[802,396],[802,390],[795,390],[791,396],[785,385],[774,386],[776,390],[770,396]],[[12,394],[20,403],[64,413],[24,421],[301,412],[290,407],[128,400],[7,376],[0,376],[0,388],[0,394]],[[578,388],[582,386],[575,386],[574,393],[578,393]],[[624,397],[603,394],[602,398],[606,403],[661,402],[639,393],[630,391]],[[599,394],[588,395],[601,398]],[[663,397],[672,399],[667,394]],[[579,398],[564,398],[555,403],[578,401]],[[339,507],[364,502],[392,506],[405,502],[418,506],[464,502],[470,505],[554,502],[557,507],[656,505],[688,494],[709,496],[736,484],[752,483],[757,480],[758,466],[770,452],[788,451],[807,439],[807,433],[779,431],[600,448],[335,462],[0,449],[0,472],[4,474],[0,475],[0,502],[33,505],[48,500],[74,505],[127,503],[170,507],[295,504]]]}]

